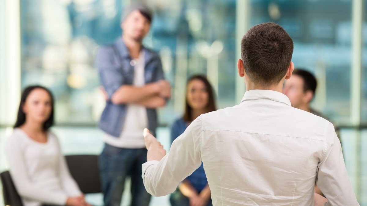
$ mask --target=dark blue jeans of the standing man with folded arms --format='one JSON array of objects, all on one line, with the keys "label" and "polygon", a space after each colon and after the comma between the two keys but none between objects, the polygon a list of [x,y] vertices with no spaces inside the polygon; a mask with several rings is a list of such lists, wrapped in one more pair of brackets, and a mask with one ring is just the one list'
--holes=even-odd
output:
[{"label": "dark blue jeans of the standing man with folded arms", "polygon": [[147,150],[113,147],[105,144],[99,156],[103,202],[105,206],[120,206],[125,179],[131,177],[131,206],[148,206],[150,194],[141,177],[141,165],[146,162]]}]

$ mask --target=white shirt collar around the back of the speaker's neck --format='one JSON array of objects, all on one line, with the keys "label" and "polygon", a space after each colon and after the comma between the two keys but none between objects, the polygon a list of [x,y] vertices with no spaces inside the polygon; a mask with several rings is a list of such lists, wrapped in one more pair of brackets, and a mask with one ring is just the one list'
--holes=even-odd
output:
[{"label": "white shirt collar around the back of the speaker's neck", "polygon": [[285,103],[288,106],[291,106],[291,102],[289,98],[283,93],[273,91],[273,90],[265,90],[265,89],[253,89],[245,92],[241,102],[251,99],[270,99],[276,102]]}]

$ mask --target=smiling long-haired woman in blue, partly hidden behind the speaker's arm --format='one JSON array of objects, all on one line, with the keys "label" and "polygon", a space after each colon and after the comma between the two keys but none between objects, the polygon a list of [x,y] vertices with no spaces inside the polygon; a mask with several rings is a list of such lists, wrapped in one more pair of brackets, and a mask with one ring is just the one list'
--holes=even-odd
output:
[{"label": "smiling long-haired woman in blue, partly hidden behind the speaker's arm", "polygon": [[[180,136],[189,124],[201,114],[215,111],[214,92],[206,77],[197,75],[189,79],[186,86],[186,106],[183,117],[171,128],[171,141]],[[211,206],[210,188],[203,163],[171,194],[172,206]]]}]

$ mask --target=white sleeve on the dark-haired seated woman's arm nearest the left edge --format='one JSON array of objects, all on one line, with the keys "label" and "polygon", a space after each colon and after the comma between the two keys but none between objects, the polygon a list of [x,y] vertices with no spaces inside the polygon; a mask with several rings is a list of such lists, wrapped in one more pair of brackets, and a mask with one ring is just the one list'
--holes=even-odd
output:
[{"label": "white sleeve on the dark-haired seated woman's arm nearest the left edge", "polygon": [[68,199],[66,194],[45,190],[44,188],[32,183],[26,171],[25,161],[20,145],[21,144],[19,144],[17,136],[11,136],[6,144],[10,174],[19,195],[23,198],[32,199],[42,203],[65,205],[66,200]]}]

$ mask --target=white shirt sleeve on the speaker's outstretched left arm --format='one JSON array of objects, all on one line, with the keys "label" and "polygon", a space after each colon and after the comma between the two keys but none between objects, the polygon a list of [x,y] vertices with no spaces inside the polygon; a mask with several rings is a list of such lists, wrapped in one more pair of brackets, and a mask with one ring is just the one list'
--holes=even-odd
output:
[{"label": "white shirt sleeve on the speaker's outstretched left arm", "polygon": [[170,152],[161,161],[142,165],[145,189],[153,196],[168,195],[200,165],[201,117],[198,117],[173,141]]}]

